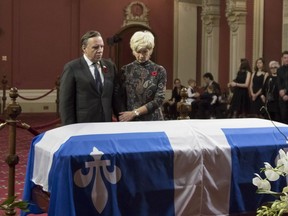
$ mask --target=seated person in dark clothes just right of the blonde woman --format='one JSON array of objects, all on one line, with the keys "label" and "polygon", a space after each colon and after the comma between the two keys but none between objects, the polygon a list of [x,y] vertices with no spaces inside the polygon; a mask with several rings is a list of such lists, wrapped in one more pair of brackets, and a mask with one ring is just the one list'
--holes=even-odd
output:
[{"label": "seated person in dark clothes just right of the blonde woman", "polygon": [[181,85],[181,81],[179,78],[176,78],[174,80],[172,96],[168,101],[164,102],[163,104],[165,119],[177,119],[177,103],[181,101],[180,93],[182,88],[185,88],[185,86]]}]

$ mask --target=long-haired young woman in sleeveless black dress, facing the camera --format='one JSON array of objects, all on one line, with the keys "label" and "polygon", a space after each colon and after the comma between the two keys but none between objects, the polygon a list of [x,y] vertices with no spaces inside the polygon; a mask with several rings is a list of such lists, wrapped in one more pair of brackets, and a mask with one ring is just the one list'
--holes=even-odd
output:
[{"label": "long-haired young woman in sleeveless black dress, facing the camera", "polygon": [[261,100],[262,88],[268,77],[263,58],[258,58],[255,62],[254,72],[251,76],[250,95],[251,95],[251,113],[253,117],[262,118],[261,107],[264,105]]}]

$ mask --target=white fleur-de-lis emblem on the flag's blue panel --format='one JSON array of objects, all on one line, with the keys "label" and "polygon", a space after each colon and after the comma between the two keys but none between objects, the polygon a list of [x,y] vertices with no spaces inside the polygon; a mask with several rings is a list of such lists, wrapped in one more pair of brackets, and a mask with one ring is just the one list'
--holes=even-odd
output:
[{"label": "white fleur-de-lis emblem on the flag's blue panel", "polygon": [[96,176],[93,181],[93,188],[91,191],[91,198],[95,209],[101,213],[108,201],[108,191],[103,182],[103,176],[101,176],[100,169],[103,170],[104,177],[111,183],[116,184],[121,178],[121,170],[114,166],[112,172],[107,170],[108,166],[111,166],[110,160],[101,160],[104,153],[99,151],[96,147],[93,147],[93,151],[90,155],[94,158],[94,161],[85,162],[85,168],[89,168],[87,174],[82,174],[82,170],[79,169],[74,174],[74,182],[78,187],[87,187],[90,182],[93,181],[92,177],[94,172]]}]

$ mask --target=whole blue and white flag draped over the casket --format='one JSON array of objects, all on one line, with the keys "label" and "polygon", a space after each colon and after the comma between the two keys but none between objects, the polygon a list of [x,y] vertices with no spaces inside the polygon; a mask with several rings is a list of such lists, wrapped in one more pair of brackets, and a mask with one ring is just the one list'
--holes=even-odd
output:
[{"label": "whole blue and white flag draped over the casket", "polygon": [[49,216],[255,212],[271,197],[256,193],[254,173],[287,146],[288,126],[275,124],[213,119],[49,130],[32,142],[23,200],[42,213],[32,201],[37,185],[50,194]]}]

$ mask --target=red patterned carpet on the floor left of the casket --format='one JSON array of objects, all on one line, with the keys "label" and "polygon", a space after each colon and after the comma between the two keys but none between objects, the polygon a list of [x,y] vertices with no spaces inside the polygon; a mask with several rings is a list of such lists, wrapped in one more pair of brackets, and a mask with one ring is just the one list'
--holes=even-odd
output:
[{"label": "red patterned carpet on the floor left of the casket", "polygon": [[[3,120],[4,117],[0,116],[0,119]],[[30,143],[35,136],[32,132],[41,133],[55,128],[59,125],[59,120],[56,113],[22,113],[17,120],[31,126],[30,130],[20,127],[16,130],[16,154],[19,156],[19,164],[16,165],[15,195],[17,199],[22,199],[27,157]],[[7,198],[8,193],[8,165],[5,163],[9,151],[8,136],[8,125],[6,125],[0,130],[0,202]],[[2,215],[1,213],[0,211],[0,215]],[[19,210],[17,210],[17,214],[19,214]]]}]

